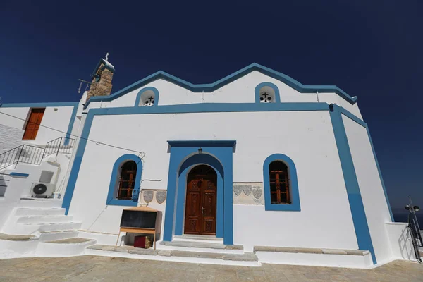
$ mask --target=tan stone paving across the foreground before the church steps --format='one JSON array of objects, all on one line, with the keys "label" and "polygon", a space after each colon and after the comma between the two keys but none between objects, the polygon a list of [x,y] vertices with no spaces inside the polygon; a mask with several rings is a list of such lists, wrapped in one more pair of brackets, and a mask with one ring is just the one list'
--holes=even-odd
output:
[{"label": "tan stone paving across the foreground before the church steps", "polygon": [[423,264],[376,269],[263,264],[261,267],[157,262],[118,257],[1,259],[0,281],[423,281]]}]

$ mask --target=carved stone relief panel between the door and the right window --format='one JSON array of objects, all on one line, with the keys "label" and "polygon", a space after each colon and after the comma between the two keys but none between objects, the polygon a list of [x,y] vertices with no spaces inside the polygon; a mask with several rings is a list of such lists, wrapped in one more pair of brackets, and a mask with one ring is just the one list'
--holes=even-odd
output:
[{"label": "carved stone relief panel between the door and the right window", "polygon": [[264,204],[263,183],[233,183],[233,204]]}]

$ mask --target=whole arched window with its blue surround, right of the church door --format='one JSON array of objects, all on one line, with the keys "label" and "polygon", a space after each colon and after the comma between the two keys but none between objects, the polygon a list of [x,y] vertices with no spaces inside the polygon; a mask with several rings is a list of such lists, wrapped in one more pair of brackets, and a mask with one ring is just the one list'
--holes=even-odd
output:
[{"label": "whole arched window with its blue surround, right of the church door", "polygon": [[263,187],[266,211],[301,211],[297,168],[290,157],[271,154],[264,160]]}]

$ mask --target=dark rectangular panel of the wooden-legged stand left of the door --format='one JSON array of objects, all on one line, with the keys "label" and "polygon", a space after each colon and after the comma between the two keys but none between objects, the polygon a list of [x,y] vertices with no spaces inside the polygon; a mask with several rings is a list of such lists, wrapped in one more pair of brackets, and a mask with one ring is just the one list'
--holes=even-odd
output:
[{"label": "dark rectangular panel of the wooden-legged stand left of the door", "polygon": [[157,212],[146,212],[137,210],[123,210],[121,227],[128,228],[152,228],[156,227]]}]

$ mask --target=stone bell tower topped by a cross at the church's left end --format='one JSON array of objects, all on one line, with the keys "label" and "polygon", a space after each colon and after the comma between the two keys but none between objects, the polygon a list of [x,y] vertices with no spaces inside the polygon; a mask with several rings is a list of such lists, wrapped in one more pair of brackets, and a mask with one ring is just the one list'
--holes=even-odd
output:
[{"label": "stone bell tower topped by a cross at the church's left end", "polygon": [[91,75],[91,86],[88,90],[87,101],[95,96],[107,96],[111,93],[111,79],[113,78],[114,66],[107,61],[109,53],[106,54],[106,59],[100,59],[97,63],[94,72]]}]

